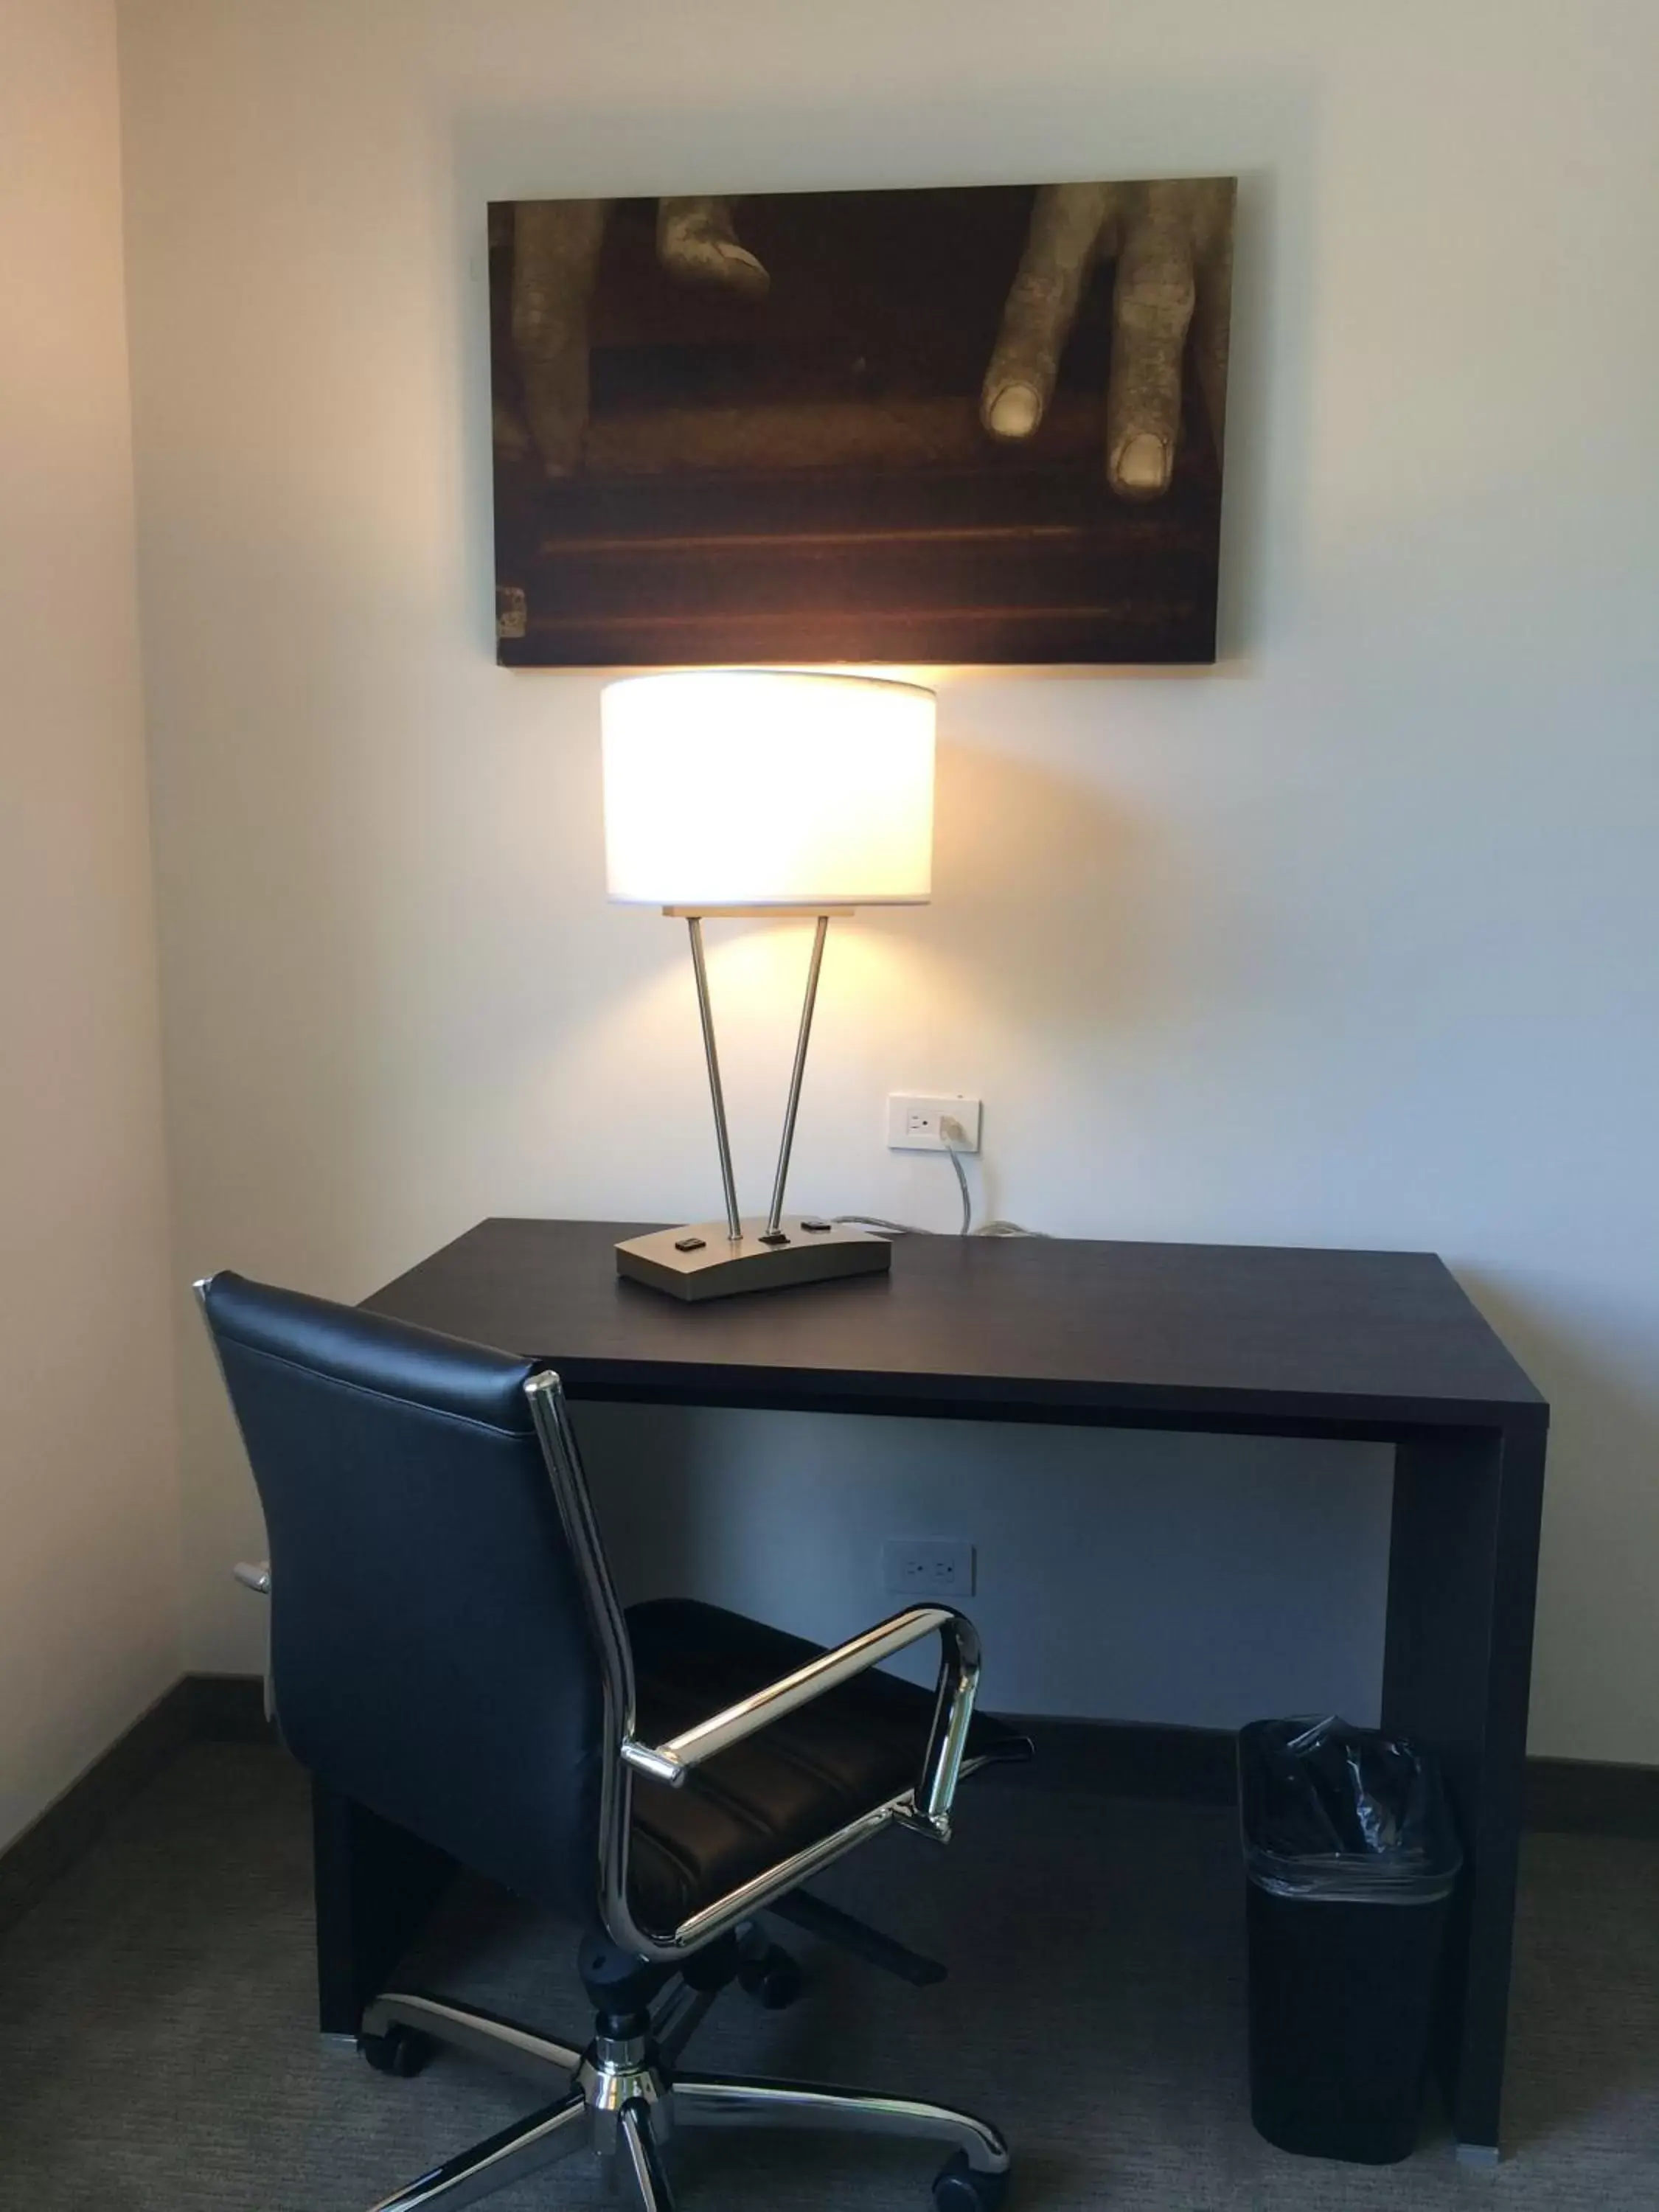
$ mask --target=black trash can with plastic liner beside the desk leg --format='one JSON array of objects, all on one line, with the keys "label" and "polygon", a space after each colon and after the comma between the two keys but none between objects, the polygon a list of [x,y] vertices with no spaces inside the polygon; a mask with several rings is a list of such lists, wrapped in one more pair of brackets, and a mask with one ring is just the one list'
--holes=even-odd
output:
[{"label": "black trash can with plastic liner beside the desk leg", "polygon": [[1391,2166],[1418,2141],[1462,1851],[1433,1761],[1347,1721],[1239,1734],[1250,2117],[1281,2150]]}]

